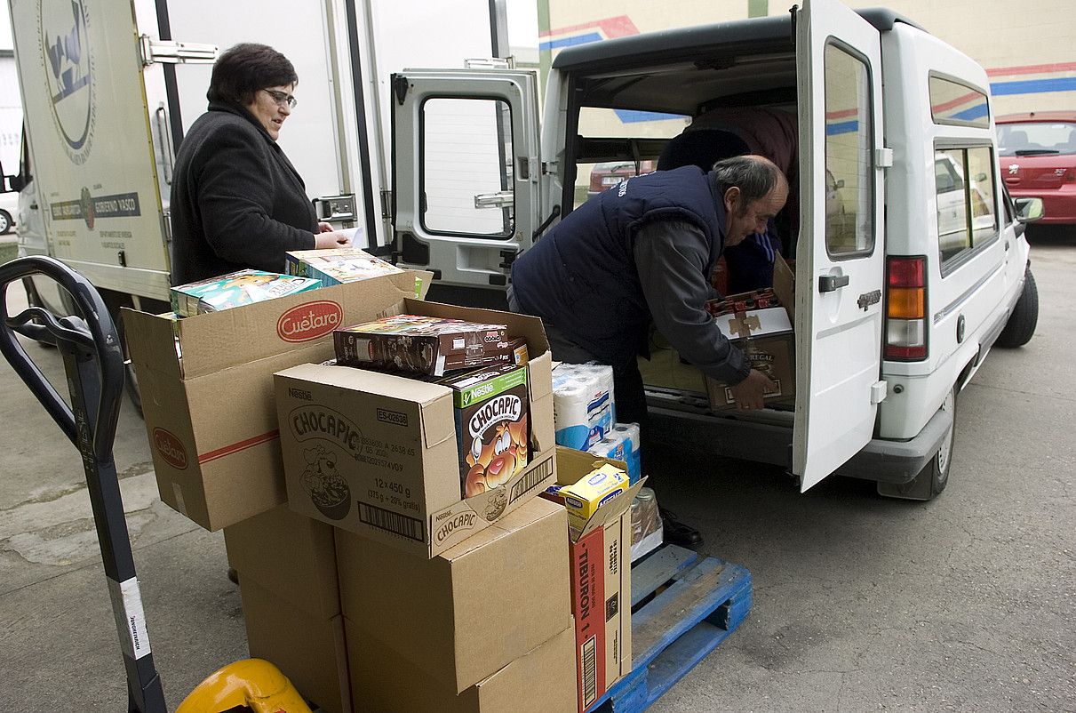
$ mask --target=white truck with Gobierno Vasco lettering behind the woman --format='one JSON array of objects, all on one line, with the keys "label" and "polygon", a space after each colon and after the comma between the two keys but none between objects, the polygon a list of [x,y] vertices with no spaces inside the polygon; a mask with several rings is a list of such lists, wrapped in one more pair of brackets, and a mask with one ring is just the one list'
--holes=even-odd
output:
[{"label": "white truck with Gobierno Vasco lettering behind the woman", "polygon": [[[23,254],[62,260],[104,291],[110,306],[167,300],[175,150],[206,111],[212,48],[247,41],[274,46],[296,67],[299,106],[280,143],[318,214],[362,226],[359,247],[386,244],[390,145],[381,127],[388,74],[409,62],[463,67],[504,51],[495,46],[493,8],[487,0],[444,8],[419,0],[14,0],[29,127],[24,183],[32,179],[19,211]],[[393,41],[404,28],[436,41]],[[166,33],[187,51],[208,48],[209,61],[170,64],[161,54],[174,47],[157,43]],[[38,286],[31,298],[61,309],[58,295]]]}]

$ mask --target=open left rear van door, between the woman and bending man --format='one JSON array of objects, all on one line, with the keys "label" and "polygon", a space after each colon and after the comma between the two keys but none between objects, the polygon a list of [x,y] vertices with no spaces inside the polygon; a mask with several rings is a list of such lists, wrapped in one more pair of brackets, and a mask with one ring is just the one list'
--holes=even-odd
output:
[{"label": "open left rear van door, between the woman and bending man", "polygon": [[502,290],[538,225],[535,74],[406,69],[390,94],[398,263],[435,285]]}]

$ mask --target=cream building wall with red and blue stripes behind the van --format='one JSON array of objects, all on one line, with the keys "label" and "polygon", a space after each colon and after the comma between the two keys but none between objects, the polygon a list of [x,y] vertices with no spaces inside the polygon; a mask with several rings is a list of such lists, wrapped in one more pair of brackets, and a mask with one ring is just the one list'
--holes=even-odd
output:
[{"label": "cream building wall with red and blue stripes behind the van", "polygon": [[[574,44],[685,25],[781,15],[783,0],[538,0],[543,66]],[[1076,6],[1057,0],[845,0],[883,4],[982,65],[995,115],[1076,110]],[[544,6],[542,6],[544,5]],[[544,12],[543,12],[544,11]]]}]

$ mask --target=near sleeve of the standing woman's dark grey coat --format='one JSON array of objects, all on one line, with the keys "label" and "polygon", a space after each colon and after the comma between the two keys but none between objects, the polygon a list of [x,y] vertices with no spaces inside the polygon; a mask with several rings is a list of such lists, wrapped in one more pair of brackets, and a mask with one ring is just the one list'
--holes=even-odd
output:
[{"label": "near sleeve of the standing woman's dark grey coat", "polygon": [[270,218],[273,173],[265,155],[239,131],[221,131],[214,143],[200,171],[198,195],[213,251],[228,262],[275,272],[285,252],[312,250],[312,232]]}]

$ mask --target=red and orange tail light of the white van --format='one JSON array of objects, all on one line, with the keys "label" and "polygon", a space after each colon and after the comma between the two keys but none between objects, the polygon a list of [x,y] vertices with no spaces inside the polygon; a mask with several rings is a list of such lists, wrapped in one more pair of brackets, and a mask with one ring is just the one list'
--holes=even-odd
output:
[{"label": "red and orange tail light of the white van", "polygon": [[890,257],[886,265],[886,359],[926,359],[926,258]]}]

